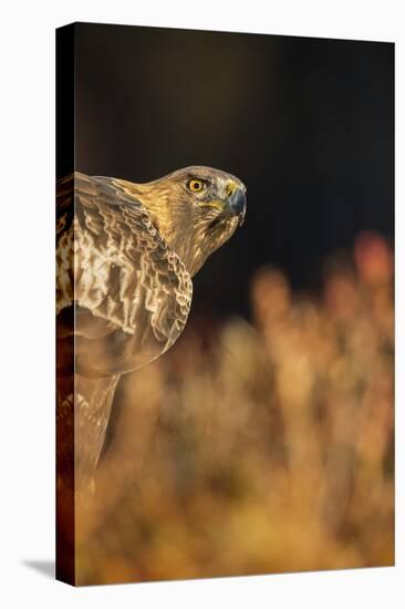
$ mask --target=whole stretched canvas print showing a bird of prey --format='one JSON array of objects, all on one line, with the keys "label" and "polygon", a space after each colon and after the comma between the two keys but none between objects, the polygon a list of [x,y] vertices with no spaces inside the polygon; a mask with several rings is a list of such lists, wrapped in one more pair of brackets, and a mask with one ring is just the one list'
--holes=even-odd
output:
[{"label": "whole stretched canvas print showing a bird of prey", "polygon": [[56,577],[394,562],[394,45],[56,31]]}]

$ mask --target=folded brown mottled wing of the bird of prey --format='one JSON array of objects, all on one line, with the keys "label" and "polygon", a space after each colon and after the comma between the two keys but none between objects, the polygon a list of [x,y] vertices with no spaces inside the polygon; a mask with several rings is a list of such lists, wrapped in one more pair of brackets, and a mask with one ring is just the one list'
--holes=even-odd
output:
[{"label": "folded brown mottled wing of the bird of prey", "polygon": [[193,285],[141,200],[75,173],[56,188],[58,364],[87,376],[135,370],[178,338]]}]

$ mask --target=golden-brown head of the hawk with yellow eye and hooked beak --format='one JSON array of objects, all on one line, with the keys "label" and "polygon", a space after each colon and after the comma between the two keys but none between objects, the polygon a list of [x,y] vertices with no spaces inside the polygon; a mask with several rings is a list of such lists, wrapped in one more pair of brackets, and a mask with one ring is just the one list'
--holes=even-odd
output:
[{"label": "golden-brown head of the hawk with yellow eye and hooked beak", "polygon": [[191,277],[245,219],[246,186],[220,169],[185,167],[138,186],[152,221]]}]

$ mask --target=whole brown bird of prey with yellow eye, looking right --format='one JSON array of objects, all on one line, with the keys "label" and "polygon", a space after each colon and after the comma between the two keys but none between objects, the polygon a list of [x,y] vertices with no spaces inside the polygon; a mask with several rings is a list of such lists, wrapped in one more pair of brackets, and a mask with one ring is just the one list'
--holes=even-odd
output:
[{"label": "whole brown bird of prey with yellow eye, looking right", "polygon": [[191,278],[246,213],[237,177],[191,166],[146,184],[81,173],[56,188],[58,485],[91,482],[120,375],[167,351]]}]

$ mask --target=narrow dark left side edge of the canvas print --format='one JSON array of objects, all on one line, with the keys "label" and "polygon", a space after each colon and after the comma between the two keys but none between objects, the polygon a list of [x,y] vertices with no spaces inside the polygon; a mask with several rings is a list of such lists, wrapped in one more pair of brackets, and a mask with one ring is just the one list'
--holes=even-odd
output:
[{"label": "narrow dark left side edge of the canvas print", "polygon": [[[74,172],[74,24],[56,30],[56,239],[61,221],[60,180]],[[73,200],[73,179],[68,186],[64,182],[63,197],[71,196]],[[73,260],[73,241],[65,256]],[[58,278],[64,272],[62,266],[59,256]],[[58,293],[58,303],[59,299]],[[69,308],[56,314],[56,579],[71,585],[75,582],[73,323]]]}]

